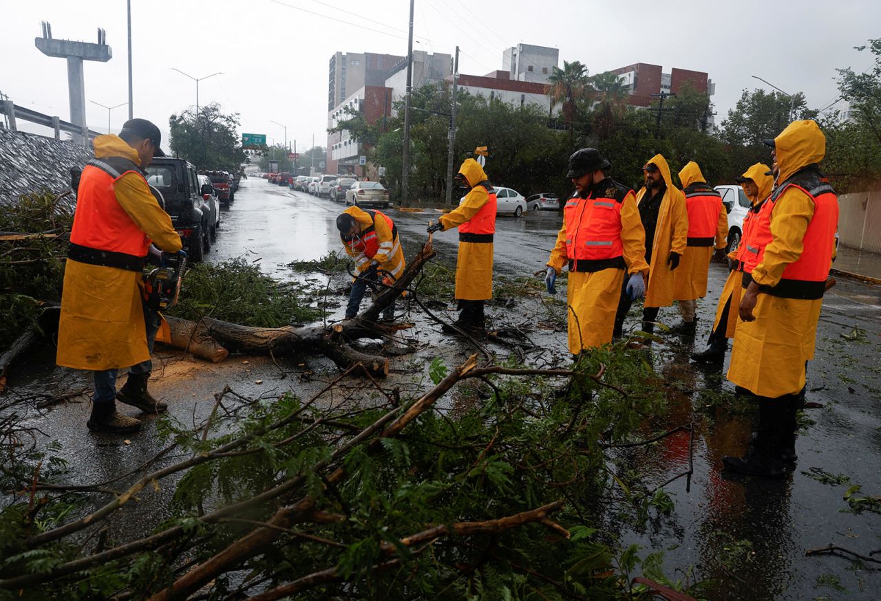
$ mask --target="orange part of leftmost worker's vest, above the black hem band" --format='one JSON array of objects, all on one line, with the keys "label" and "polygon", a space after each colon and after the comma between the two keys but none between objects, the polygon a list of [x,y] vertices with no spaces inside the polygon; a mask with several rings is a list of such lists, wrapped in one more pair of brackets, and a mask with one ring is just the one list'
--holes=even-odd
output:
[{"label": "orange part of leftmost worker's vest, above the black hem band", "polygon": [[[134,165],[134,164],[132,164]],[[116,200],[114,184],[126,173],[137,173],[149,190],[147,180],[131,169],[122,173],[104,161],[89,161],[83,169],[77,192],[70,242],[95,251],[145,257],[150,238],[137,227]],[[151,196],[152,198],[152,196]]]}]

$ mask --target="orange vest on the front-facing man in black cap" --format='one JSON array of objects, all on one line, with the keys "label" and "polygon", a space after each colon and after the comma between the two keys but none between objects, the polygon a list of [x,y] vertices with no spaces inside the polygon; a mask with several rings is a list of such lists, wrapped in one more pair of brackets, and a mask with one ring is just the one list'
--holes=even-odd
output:
[{"label": "orange vest on the front-facing man in black cap", "polygon": [[633,190],[606,178],[590,190],[587,198],[574,196],[566,202],[563,219],[569,271],[626,269],[621,205],[628,194],[633,196]]}]

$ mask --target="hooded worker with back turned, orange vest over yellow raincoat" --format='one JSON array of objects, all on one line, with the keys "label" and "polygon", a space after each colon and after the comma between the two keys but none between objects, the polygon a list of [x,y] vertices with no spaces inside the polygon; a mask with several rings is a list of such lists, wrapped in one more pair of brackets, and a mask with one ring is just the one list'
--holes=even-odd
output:
[{"label": "hooded worker with back turned, orange vest over yellow raincoat", "polygon": [[682,323],[677,331],[693,336],[697,329],[698,299],[707,296],[707,274],[713,247],[720,259],[728,238],[728,211],[722,194],[707,184],[700,166],[689,161],[679,172],[688,214],[688,237],[685,254],[673,278],[673,298],[679,304]]}]

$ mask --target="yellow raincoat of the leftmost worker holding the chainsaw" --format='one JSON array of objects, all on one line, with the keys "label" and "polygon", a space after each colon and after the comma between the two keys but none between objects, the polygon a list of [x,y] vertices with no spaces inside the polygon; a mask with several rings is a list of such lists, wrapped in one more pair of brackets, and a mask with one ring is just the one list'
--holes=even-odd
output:
[{"label": "yellow raincoat of the leftmost worker holding the chainsaw", "polygon": [[[137,152],[119,136],[98,136],[95,158],[124,157],[140,164]],[[147,183],[126,173],[113,184],[116,200],[163,251],[181,250],[171,217],[159,207]],[[150,358],[144,326],[141,274],[67,260],[58,324],[56,363],[78,370],[130,367]]]}]

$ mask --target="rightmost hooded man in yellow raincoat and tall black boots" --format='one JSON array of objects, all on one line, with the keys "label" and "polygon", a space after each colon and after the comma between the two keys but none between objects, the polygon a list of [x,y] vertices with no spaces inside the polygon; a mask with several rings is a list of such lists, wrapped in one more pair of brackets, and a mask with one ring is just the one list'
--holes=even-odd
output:
[{"label": "rightmost hooded man in yellow raincoat and tall black boots", "polygon": [[759,264],[744,275],[728,377],[759,403],[753,443],[729,469],[779,477],[795,455],[796,411],[813,357],[826,278],[832,267],[838,197],[819,171],[825,136],[811,120],[793,121],[774,140],[777,187],[759,211]]}]

